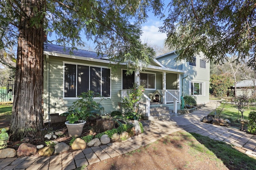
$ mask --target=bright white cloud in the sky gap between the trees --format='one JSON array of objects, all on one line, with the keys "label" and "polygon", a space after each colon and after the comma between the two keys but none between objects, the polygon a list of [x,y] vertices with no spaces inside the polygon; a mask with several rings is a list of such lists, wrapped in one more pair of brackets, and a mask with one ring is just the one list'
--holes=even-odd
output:
[{"label": "bright white cloud in the sky gap between the trees", "polygon": [[[149,25],[150,24],[150,25]],[[147,25],[142,26],[142,36],[140,39],[143,43],[148,43],[149,45],[158,45],[160,47],[164,46],[164,39],[166,39],[166,34],[159,32],[160,22],[148,22]]]}]

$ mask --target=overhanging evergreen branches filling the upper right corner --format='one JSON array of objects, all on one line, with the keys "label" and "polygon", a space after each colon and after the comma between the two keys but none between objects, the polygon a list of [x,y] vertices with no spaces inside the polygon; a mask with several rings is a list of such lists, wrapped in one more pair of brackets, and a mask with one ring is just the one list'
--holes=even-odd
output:
[{"label": "overhanging evergreen branches filling the upper right corner", "polygon": [[206,59],[224,61],[226,54],[249,56],[256,70],[255,0],[172,0],[160,27],[166,45],[178,49],[178,59],[191,61],[203,52]]}]

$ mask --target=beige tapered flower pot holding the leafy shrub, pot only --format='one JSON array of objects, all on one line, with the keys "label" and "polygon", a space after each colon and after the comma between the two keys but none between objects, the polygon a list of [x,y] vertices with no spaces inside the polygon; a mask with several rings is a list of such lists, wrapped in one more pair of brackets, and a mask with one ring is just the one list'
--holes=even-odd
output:
[{"label": "beige tapered flower pot holding the leafy shrub, pot only", "polygon": [[83,132],[84,124],[86,123],[85,120],[78,120],[79,123],[69,123],[69,121],[65,122],[68,128],[68,134],[70,137],[78,137]]}]

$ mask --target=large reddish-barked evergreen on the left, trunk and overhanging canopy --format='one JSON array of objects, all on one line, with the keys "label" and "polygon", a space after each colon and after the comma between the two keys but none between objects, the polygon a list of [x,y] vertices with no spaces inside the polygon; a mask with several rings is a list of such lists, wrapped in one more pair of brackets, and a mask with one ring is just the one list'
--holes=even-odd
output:
[{"label": "large reddish-barked evergreen on the left, trunk and overhanging canopy", "polygon": [[26,129],[41,129],[43,125],[44,32],[56,35],[56,43],[72,49],[84,45],[84,35],[111,61],[146,66],[154,51],[141,43],[140,24],[146,21],[149,10],[160,15],[161,1],[1,0],[0,49],[18,47],[10,139],[20,140]]}]

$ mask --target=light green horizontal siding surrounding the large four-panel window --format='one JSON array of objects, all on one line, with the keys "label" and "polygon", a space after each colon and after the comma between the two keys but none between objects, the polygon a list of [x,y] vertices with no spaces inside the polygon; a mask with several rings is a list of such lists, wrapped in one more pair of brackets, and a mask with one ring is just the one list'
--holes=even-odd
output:
[{"label": "light green horizontal siding surrounding the large four-panel window", "polygon": [[[46,55],[44,56],[46,59]],[[97,63],[92,61],[82,61],[77,59],[67,59],[62,57],[49,56],[49,61],[45,60],[45,70],[44,70],[44,118],[47,119],[48,114],[48,94],[50,95],[50,114],[54,113],[64,113],[67,111],[68,107],[72,105],[76,98],[74,99],[64,99],[63,96],[63,62],[71,62],[74,64],[88,64],[93,66],[105,66],[108,64]],[[49,69],[46,70],[46,66]],[[48,72],[48,77],[47,77]],[[95,99],[96,102],[100,102],[105,108],[107,113],[111,111],[119,110],[118,103],[120,102],[120,89],[121,89],[121,69],[111,69],[111,98],[106,98],[101,101],[101,99]],[[47,82],[48,80],[48,82]],[[47,90],[49,87],[49,90]]]}]

